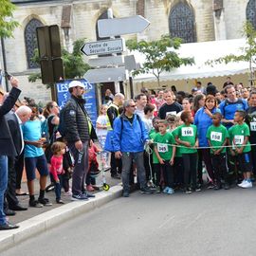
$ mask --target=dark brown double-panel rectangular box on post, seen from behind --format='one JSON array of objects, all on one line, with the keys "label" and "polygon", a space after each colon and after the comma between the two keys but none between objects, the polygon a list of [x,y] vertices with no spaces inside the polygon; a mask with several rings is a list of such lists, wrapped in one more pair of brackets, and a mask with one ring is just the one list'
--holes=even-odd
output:
[{"label": "dark brown double-panel rectangular box on post, seen from behind", "polygon": [[37,27],[37,43],[43,83],[59,82],[64,79],[64,64],[57,25]]}]

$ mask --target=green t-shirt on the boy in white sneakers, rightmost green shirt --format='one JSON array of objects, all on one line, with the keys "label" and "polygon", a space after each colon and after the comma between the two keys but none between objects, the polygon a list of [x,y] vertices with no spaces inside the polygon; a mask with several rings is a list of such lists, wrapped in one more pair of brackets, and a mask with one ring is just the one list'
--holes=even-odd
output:
[{"label": "green t-shirt on the boy in white sneakers, rightmost green shirt", "polygon": [[[236,145],[236,147],[240,148],[245,140],[245,137],[249,137],[249,128],[247,123],[235,124],[229,129],[229,137],[230,143],[232,145]],[[234,149],[234,147],[233,147]],[[247,141],[247,145],[245,146],[243,153],[250,152],[250,143]]]}]

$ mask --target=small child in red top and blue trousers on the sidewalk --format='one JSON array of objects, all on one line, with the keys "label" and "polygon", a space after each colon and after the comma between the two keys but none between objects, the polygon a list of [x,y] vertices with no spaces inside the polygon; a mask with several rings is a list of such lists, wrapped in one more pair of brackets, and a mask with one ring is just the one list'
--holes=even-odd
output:
[{"label": "small child in red top and blue trousers on the sidewalk", "polygon": [[51,146],[52,156],[50,158],[50,173],[52,174],[56,195],[57,204],[64,204],[61,199],[62,187],[63,187],[63,175],[64,175],[64,153],[65,144],[64,142],[57,141]]}]

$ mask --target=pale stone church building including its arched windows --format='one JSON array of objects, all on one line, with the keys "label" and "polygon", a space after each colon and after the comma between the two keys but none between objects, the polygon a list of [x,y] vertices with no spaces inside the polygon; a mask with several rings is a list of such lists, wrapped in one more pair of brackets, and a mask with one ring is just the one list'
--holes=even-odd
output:
[{"label": "pale stone church building including its arched windows", "polygon": [[72,42],[99,39],[97,21],[107,17],[142,15],[151,25],[137,35],[123,36],[155,40],[162,34],[181,37],[185,43],[237,39],[242,37],[246,20],[256,27],[256,0],[12,0],[14,19],[20,27],[13,38],[1,44],[1,67],[21,82],[23,96],[46,102],[50,91],[41,82],[29,83],[27,76],[39,68],[30,58],[37,47],[36,27],[58,25],[62,46],[72,49]]}]

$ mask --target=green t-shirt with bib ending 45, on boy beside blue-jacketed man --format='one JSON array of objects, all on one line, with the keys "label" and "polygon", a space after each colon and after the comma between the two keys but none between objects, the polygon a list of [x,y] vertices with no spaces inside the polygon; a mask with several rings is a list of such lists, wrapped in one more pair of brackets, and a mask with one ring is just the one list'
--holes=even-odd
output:
[{"label": "green t-shirt with bib ending 45, on boy beside blue-jacketed man", "polygon": [[165,133],[164,135],[158,133],[155,136],[154,142],[161,158],[164,160],[170,160],[173,155],[173,146],[168,144],[175,143],[172,133]]}]

